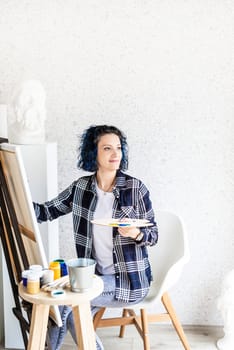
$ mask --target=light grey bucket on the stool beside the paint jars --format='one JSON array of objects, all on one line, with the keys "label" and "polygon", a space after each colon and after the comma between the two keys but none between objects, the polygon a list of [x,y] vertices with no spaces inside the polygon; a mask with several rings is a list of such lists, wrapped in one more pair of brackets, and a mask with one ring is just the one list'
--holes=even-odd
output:
[{"label": "light grey bucket on the stool beside the paint jars", "polygon": [[92,288],[96,261],[76,258],[66,262],[72,292],[85,292]]}]

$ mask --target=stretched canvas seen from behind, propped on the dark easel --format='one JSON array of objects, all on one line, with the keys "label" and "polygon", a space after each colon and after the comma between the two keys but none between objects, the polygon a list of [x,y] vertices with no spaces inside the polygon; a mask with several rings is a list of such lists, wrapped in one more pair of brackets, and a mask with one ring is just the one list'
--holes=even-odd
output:
[{"label": "stretched canvas seen from behind, propped on the dark easel", "polygon": [[[8,252],[8,260],[13,271],[15,282],[18,284],[21,279],[19,271],[33,264],[40,264],[43,267],[48,267],[48,262],[34,213],[27,174],[20,148],[17,145],[8,143],[0,144],[0,161],[1,175],[3,175],[1,177],[1,190],[3,195],[1,202],[4,204],[1,205],[1,218],[3,222],[3,231],[5,232],[5,245],[6,248],[8,248],[6,249]],[[8,195],[11,203],[8,203]],[[4,209],[5,205],[6,208]],[[11,215],[11,207],[14,209],[14,215]],[[11,241],[9,241],[8,232],[10,232],[12,236]],[[11,253],[11,244],[15,247],[17,254]],[[23,251],[25,252],[25,256]],[[16,256],[19,257],[18,260]],[[57,324],[61,325],[61,317],[57,307],[51,310],[51,315]]]}]

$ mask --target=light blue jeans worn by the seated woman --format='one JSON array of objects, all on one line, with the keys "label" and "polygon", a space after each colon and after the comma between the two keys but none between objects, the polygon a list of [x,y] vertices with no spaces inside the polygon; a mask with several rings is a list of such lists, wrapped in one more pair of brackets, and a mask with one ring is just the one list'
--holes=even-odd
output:
[{"label": "light blue jeans worn by the seated woman", "polygon": [[[101,307],[124,307],[127,305],[133,305],[139,303],[143,298],[131,302],[131,303],[123,303],[119,302],[115,299],[115,276],[114,275],[104,275],[100,276],[104,283],[103,292],[91,300],[91,311],[94,316],[96,312]],[[59,350],[63,344],[64,337],[69,331],[74,339],[74,342],[77,344],[75,328],[74,328],[74,320],[72,315],[72,309],[70,306],[59,306],[59,310],[61,313],[62,319],[62,327],[51,326],[49,328],[49,339],[51,350]],[[96,334],[96,349],[104,350],[101,340]]]}]

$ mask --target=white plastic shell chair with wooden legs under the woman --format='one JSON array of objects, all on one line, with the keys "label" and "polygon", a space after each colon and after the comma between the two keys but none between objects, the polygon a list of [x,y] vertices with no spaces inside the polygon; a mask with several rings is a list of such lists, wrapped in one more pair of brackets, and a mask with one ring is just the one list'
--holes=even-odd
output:
[{"label": "white plastic shell chair with wooden legs under the woman", "polygon": [[[190,350],[183,327],[176,316],[168,290],[178,281],[184,265],[189,260],[189,248],[182,220],[175,214],[165,211],[156,213],[158,223],[158,243],[149,247],[149,259],[154,281],[143,302],[124,308],[122,317],[102,318],[106,308],[94,317],[94,328],[121,326],[119,336],[123,337],[126,325],[134,324],[143,339],[144,350],[150,350],[149,323],[171,321],[185,350]],[[155,314],[154,308],[162,302],[164,313]],[[146,310],[147,309],[147,310]]]}]

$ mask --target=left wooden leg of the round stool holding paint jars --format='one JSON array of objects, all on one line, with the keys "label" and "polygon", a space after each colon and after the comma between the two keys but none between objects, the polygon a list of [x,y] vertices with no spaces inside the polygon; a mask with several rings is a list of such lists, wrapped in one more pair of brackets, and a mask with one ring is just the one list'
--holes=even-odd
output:
[{"label": "left wooden leg of the round stool holding paint jars", "polygon": [[28,350],[45,349],[49,308],[49,305],[33,305]]}]

